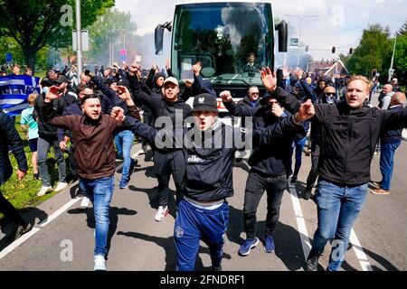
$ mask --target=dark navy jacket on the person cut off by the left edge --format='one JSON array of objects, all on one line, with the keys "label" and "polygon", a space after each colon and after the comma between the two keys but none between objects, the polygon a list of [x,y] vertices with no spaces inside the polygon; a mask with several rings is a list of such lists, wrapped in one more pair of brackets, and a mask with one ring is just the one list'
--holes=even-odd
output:
[{"label": "dark navy jacket on the person cut off by the left edge", "polygon": [[23,141],[15,129],[13,119],[0,107],[0,184],[7,182],[13,174],[13,167],[8,157],[8,145],[12,148],[19,170],[27,172]]}]

